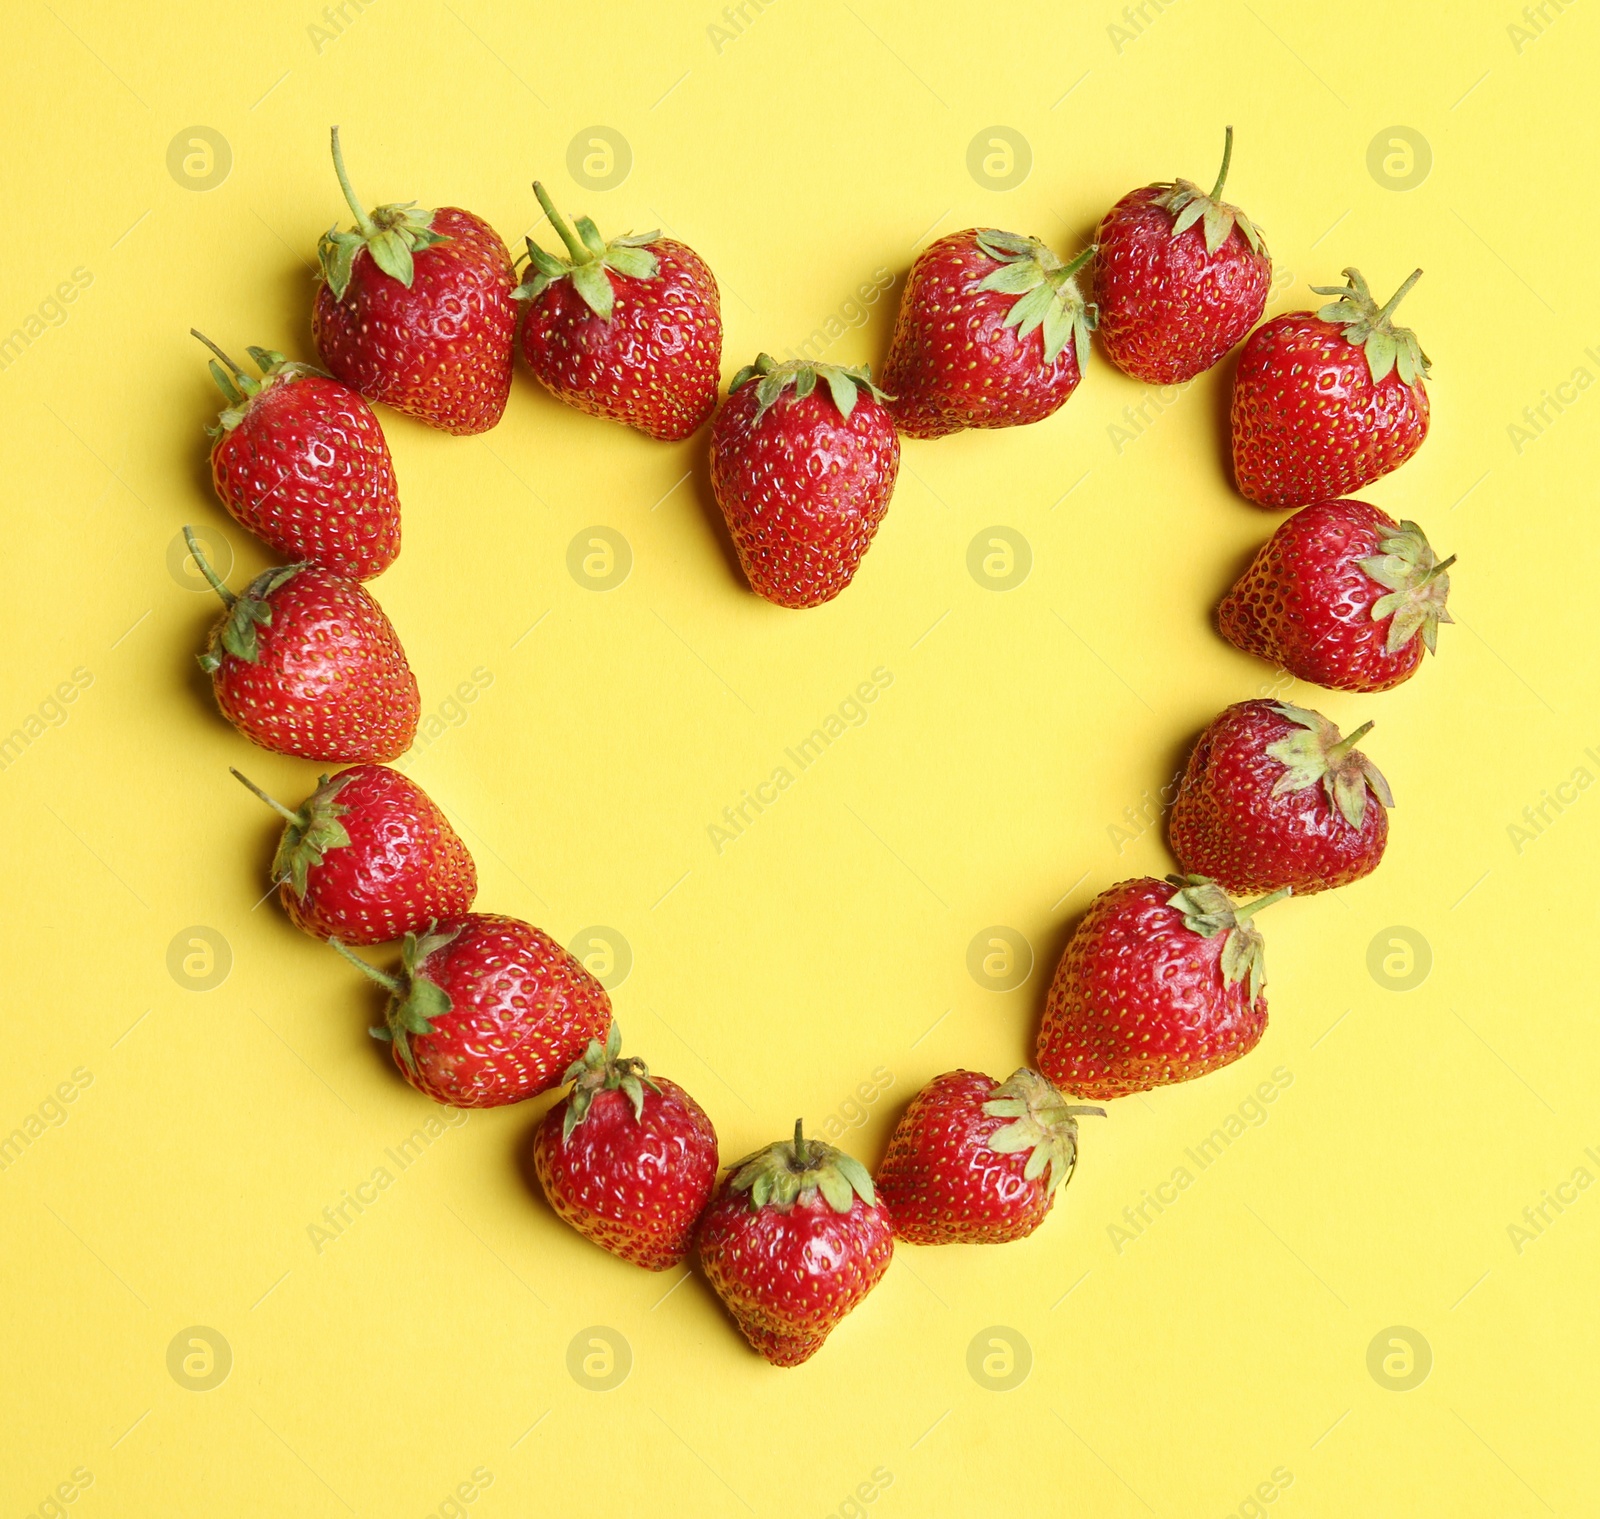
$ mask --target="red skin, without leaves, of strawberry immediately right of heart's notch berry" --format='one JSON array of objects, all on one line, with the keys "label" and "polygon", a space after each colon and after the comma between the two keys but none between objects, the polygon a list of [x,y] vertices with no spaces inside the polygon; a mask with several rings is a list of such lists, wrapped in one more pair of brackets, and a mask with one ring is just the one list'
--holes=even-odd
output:
[{"label": "red skin, without leaves, of strawberry immediately right of heart's notch berry", "polygon": [[1005,325],[1016,298],[978,290],[994,271],[976,230],[941,237],[912,264],[882,381],[907,437],[1043,421],[1077,389],[1074,344],[1046,365],[1042,328],[1019,339]]}]

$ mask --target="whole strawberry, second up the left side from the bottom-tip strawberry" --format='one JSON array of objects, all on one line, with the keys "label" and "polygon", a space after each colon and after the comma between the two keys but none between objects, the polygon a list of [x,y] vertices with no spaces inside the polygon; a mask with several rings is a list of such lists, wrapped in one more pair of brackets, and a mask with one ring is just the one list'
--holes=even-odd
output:
[{"label": "whole strawberry, second up the left side from the bottom-tip strawberry", "polygon": [[558,1087],[611,1024],[605,988],[515,917],[467,912],[408,933],[394,976],[331,943],[389,992],[371,1036],[390,1044],[418,1092],[451,1108],[499,1108]]}]

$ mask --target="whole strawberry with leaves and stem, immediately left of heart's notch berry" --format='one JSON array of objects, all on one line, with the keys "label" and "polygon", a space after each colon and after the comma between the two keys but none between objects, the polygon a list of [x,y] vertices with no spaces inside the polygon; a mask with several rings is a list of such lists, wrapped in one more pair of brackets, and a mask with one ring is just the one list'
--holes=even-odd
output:
[{"label": "whole strawberry with leaves and stem, immediately left of heart's notch berry", "polygon": [[717,405],[722,301],[717,280],[690,246],[659,232],[610,243],[587,216],[578,235],[542,184],[534,195],[566,259],[528,238],[522,357],[560,400],[675,442],[699,431]]}]

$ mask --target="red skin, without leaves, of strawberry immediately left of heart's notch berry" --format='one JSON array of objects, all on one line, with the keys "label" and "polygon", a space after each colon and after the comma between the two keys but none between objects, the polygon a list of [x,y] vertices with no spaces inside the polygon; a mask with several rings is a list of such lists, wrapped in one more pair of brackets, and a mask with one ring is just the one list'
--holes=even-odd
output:
[{"label": "red skin, without leaves, of strawberry immediately left of heart's notch berry", "polygon": [[717,405],[722,298],[701,256],[670,237],[650,243],[658,271],[608,271],[614,307],[595,315],[570,279],[528,301],[522,357],[560,400],[590,416],[677,442]]}]

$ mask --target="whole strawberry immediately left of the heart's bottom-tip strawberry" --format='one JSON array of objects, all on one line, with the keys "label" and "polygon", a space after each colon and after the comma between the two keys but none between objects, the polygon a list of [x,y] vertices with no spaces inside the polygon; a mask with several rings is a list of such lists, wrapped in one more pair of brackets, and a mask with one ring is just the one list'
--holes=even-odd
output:
[{"label": "whole strawberry immediately left of the heart's bottom-tip strawberry", "polygon": [[557,1215],[646,1271],[677,1266],[717,1184],[717,1130],[699,1103],[622,1055],[616,1023],[562,1077],[573,1090],[533,1135]]}]

